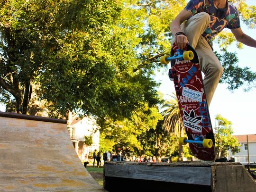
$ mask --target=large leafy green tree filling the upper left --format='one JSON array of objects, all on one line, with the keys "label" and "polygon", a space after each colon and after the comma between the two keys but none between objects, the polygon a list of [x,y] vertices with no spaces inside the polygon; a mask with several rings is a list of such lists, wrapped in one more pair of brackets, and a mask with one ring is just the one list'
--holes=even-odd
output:
[{"label": "large leafy green tree filling the upper left", "polygon": [[134,72],[140,26],[126,26],[121,8],[113,0],[2,0],[1,102],[26,113],[36,91],[50,117],[71,110],[112,118],[158,103],[151,71]]}]

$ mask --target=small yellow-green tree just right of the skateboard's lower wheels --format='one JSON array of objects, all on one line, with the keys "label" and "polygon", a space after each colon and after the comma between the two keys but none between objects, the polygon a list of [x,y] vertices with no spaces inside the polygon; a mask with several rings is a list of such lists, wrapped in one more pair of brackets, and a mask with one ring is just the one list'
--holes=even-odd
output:
[{"label": "small yellow-green tree just right of the skateboard's lower wheels", "polygon": [[215,127],[215,145],[217,151],[217,159],[226,155],[227,150],[231,150],[233,154],[240,151],[240,144],[234,133],[232,123],[219,114],[215,117],[217,125]]}]

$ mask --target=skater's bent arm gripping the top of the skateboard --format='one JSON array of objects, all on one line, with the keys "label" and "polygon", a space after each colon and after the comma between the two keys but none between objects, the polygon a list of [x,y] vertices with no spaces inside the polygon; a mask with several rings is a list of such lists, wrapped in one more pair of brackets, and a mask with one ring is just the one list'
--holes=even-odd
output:
[{"label": "skater's bent arm gripping the top of the skateboard", "polygon": [[179,15],[173,20],[173,22],[170,25],[170,29],[174,35],[174,42],[178,46],[179,49],[183,49],[186,46],[186,43],[188,42],[188,39],[185,35],[175,35],[178,32],[182,32],[181,30],[181,24],[187,20],[190,16],[192,16],[192,13],[186,9],[183,9]]}]

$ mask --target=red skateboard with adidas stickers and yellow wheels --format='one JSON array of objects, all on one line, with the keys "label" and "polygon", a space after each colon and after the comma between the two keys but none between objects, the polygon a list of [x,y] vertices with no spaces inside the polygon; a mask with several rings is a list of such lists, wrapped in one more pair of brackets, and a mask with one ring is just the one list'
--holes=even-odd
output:
[{"label": "red skateboard with adidas stickers and yellow wheels", "polygon": [[196,51],[189,44],[184,50],[179,50],[174,43],[171,56],[162,56],[160,62],[165,65],[171,63],[169,77],[174,81],[183,126],[187,134],[187,138],[179,138],[179,143],[189,143],[190,150],[196,158],[214,161],[215,139]]}]

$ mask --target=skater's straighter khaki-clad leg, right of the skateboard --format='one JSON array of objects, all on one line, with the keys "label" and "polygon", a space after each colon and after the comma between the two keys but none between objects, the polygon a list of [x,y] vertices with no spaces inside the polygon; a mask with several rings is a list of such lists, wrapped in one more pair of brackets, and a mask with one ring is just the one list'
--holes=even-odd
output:
[{"label": "skater's straighter khaki-clad leg, right of the skateboard", "polygon": [[223,73],[223,67],[220,64],[219,59],[211,50],[210,45],[202,36],[198,41],[195,51],[198,54],[201,71],[204,73],[203,84],[209,107]]}]

